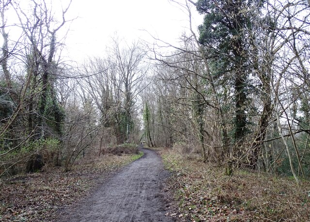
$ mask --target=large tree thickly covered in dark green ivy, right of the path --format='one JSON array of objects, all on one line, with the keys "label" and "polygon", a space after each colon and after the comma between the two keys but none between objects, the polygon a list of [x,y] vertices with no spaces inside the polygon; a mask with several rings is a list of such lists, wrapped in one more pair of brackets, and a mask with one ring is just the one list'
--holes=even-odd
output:
[{"label": "large tree thickly covered in dark green ivy, right of the path", "polygon": [[[200,43],[208,52],[211,75],[217,88],[228,84],[233,90],[233,112],[225,111],[224,116],[233,116],[234,162],[240,162],[245,151],[243,143],[248,134],[247,129],[247,91],[250,89],[249,75],[252,72],[250,55],[249,30],[251,29],[250,8],[261,6],[256,0],[199,0],[195,5],[204,14],[203,24],[199,27]],[[218,90],[218,93],[227,93]],[[231,97],[231,95],[227,95]],[[227,101],[226,101],[227,102]],[[221,112],[222,112],[221,111]],[[228,143],[229,144],[229,143]]]}]

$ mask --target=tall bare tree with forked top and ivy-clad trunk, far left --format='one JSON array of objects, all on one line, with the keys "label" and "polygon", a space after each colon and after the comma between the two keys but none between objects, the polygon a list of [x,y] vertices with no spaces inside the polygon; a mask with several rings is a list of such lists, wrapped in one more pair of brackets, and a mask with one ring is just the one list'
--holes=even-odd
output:
[{"label": "tall bare tree with forked top and ivy-clad trunk, far left", "polygon": [[[62,134],[61,122],[64,114],[60,104],[57,101],[55,92],[55,79],[59,72],[57,62],[54,60],[57,41],[56,33],[66,23],[65,15],[70,7],[62,10],[62,20],[57,22],[51,13],[51,9],[47,7],[46,1],[31,1],[31,11],[33,19],[27,15],[17,3],[14,3],[14,9],[18,16],[20,26],[27,37],[31,49],[27,56],[28,78],[33,89],[31,93],[41,85],[40,100],[38,104],[38,126],[41,128],[41,137],[45,137],[45,127],[49,125],[59,136]],[[40,79],[37,79],[40,74]],[[31,95],[31,98],[34,95]],[[32,99],[31,99],[31,102]],[[33,127],[33,104],[30,104],[29,126]],[[47,120],[47,121],[46,121]]]}]

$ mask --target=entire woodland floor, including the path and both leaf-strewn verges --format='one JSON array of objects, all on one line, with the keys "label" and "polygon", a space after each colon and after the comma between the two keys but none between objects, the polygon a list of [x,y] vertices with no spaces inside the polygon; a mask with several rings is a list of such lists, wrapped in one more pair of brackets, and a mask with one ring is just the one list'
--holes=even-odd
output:
[{"label": "entire woodland floor, including the path and both leaf-strewn verges", "polygon": [[133,163],[139,156],[109,155],[67,173],[56,168],[3,181],[0,221],[310,221],[307,180],[297,185],[246,169],[228,177],[224,168],[173,149],[157,149],[163,162],[155,151],[140,150]]}]

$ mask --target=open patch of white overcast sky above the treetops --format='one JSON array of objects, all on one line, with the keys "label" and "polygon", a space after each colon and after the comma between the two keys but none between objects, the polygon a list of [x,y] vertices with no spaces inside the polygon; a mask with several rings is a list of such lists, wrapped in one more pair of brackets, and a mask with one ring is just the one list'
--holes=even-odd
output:
[{"label": "open patch of white overcast sky above the treetops", "polygon": [[[202,16],[195,8],[192,11],[196,28]],[[128,42],[139,38],[151,42],[149,32],[175,43],[189,27],[187,13],[170,0],[73,0],[67,18],[74,17],[78,18],[70,25],[64,53],[72,60],[103,55],[116,32]]]}]

